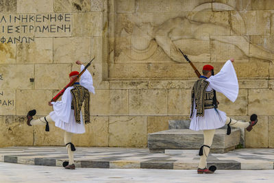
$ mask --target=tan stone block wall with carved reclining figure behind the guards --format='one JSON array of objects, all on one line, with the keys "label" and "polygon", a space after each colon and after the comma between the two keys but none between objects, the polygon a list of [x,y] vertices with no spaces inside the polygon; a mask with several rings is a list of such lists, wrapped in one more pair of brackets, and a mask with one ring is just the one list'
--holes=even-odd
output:
[{"label": "tan stone block wall with carved reclining figure behind the guards", "polygon": [[180,48],[199,71],[210,63],[218,72],[235,58],[239,96],[232,103],[218,94],[219,109],[246,121],[258,114],[245,145],[274,147],[273,7],[271,0],[0,1],[0,146],[63,145],[62,130],[28,127],[25,114],[48,114],[47,101],[79,70],[75,60],[95,56],[92,123],[73,141],[146,147],[148,133],[188,118],[196,76]]}]

